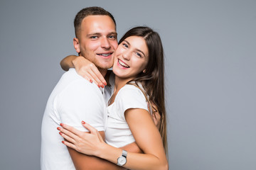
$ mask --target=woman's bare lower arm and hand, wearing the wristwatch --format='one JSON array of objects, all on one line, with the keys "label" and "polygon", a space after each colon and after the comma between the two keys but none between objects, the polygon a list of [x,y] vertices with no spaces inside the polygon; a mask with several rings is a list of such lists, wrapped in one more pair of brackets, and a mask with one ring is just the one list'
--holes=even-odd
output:
[{"label": "woman's bare lower arm and hand, wearing the wristwatch", "polygon": [[[137,145],[145,154],[128,152],[127,163],[124,164],[124,167],[127,169],[148,170],[168,169],[168,162],[159,130],[154,125],[148,111],[132,108],[125,112],[125,118]],[[122,149],[107,145],[95,128],[92,128],[87,123],[84,126],[90,130],[90,133],[84,133],[80,137],[73,137],[73,133],[63,129],[65,128],[63,126],[62,132],[65,134],[62,134],[62,136],[69,141],[64,142],[64,144],[83,154],[100,157],[117,164],[117,159],[121,156]]]}]

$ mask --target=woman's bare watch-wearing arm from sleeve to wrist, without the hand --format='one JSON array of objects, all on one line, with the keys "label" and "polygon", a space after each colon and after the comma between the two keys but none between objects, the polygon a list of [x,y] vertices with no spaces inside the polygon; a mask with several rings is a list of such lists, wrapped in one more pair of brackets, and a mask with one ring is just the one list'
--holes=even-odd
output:
[{"label": "woman's bare watch-wearing arm from sleeve to wrist, without the hand", "polygon": [[[124,167],[128,169],[168,169],[168,162],[164,152],[159,130],[148,111],[140,108],[132,108],[125,111],[125,118],[129,125],[132,135],[139,148],[145,154],[128,152],[127,163]],[[117,158],[122,154],[122,149],[112,147],[102,143],[95,148],[95,156],[107,159],[110,162],[117,162]]]}]

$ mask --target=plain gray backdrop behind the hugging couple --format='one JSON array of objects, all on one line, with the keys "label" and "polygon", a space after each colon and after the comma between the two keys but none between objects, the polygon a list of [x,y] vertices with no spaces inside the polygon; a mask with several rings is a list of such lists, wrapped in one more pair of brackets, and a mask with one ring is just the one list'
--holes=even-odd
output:
[{"label": "plain gray backdrop behind the hugging couple", "polygon": [[170,169],[256,169],[255,0],[1,0],[0,169],[40,169],[43,111],[85,6],[110,11],[119,38],[161,35]]}]

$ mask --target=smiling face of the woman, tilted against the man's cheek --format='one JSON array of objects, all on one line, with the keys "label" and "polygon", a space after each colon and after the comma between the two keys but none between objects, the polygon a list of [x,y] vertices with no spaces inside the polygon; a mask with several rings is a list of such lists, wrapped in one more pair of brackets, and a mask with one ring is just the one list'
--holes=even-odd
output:
[{"label": "smiling face of the woman, tilted against the man's cheek", "polygon": [[131,36],[121,42],[114,56],[113,72],[122,79],[134,79],[149,61],[149,50],[142,37]]}]

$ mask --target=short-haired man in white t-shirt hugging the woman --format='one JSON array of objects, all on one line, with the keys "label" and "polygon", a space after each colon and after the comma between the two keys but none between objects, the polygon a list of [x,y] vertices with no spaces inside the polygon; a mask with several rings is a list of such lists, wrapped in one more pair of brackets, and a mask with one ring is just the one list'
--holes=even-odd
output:
[{"label": "short-haired man in white t-shirt hugging the woman", "polygon": [[[100,7],[84,8],[76,15],[74,26],[76,38],[73,45],[76,52],[95,64],[104,77],[107,69],[112,67],[117,48],[114,17]],[[43,115],[41,169],[94,169],[96,164],[95,169],[121,169],[110,162],[65,147],[63,137],[58,135],[60,123],[86,131],[81,124],[85,120],[105,137],[107,107],[102,94],[102,88],[80,77],[75,69],[63,74],[50,94]]]}]

